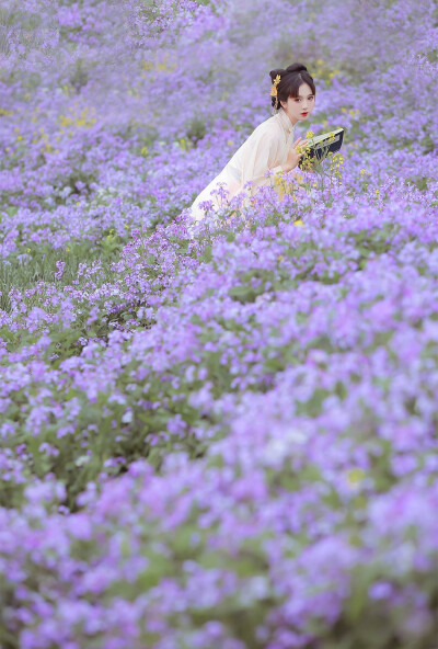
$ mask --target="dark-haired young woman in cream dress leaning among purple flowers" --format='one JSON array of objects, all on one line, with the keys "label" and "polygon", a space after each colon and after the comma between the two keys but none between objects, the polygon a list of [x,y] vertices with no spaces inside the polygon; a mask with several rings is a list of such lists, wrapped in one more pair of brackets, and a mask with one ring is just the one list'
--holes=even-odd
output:
[{"label": "dark-haired young woman in cream dress leaning among purple flowers", "polygon": [[[299,137],[293,141],[293,129],[298,122],[311,115],[316,89],[302,64],[292,64],[286,70],[272,70],[269,76],[273,116],[253,130],[219,175],[195,198],[191,209],[196,221],[205,217],[201,203],[211,201],[217,210],[240,192],[244,192],[249,200],[257,187],[272,182],[272,178],[265,178],[268,169],[276,174],[298,166],[303,153],[297,147],[304,146],[307,140]],[[253,186],[244,189],[249,181],[254,183]],[[219,189],[218,183],[224,183],[227,200],[210,194]]]}]

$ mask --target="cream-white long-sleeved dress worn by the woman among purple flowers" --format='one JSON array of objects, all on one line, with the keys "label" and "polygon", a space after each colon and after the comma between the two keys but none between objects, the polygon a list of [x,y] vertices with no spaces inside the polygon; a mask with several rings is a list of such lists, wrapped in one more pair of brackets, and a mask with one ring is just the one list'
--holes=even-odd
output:
[{"label": "cream-white long-sleeved dress worn by the woman among purple flowers", "polygon": [[[261,185],[273,183],[273,178],[265,178],[270,169],[274,174],[281,171],[281,164],[286,162],[289,149],[293,144],[293,124],[283,109],[275,115],[262,122],[235,151],[231,160],[195,198],[191,210],[196,221],[205,217],[205,212],[199,204],[211,201],[217,210],[223,207],[228,201],[240,192],[244,192],[247,201]],[[297,169],[297,168],[296,168]],[[244,184],[253,181],[254,186],[243,189]],[[227,198],[218,194],[210,194],[211,190],[219,189],[218,183],[226,183]],[[244,203],[245,204],[245,203]]]}]

